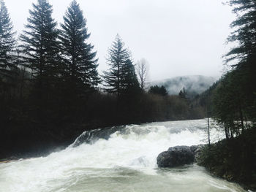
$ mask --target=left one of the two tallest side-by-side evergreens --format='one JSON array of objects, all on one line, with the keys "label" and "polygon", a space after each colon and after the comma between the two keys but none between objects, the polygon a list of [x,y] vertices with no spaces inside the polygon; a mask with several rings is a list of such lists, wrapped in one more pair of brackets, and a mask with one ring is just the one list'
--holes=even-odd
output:
[{"label": "left one of the two tallest side-by-side evergreens", "polygon": [[29,10],[26,30],[20,36],[24,65],[31,69],[42,93],[53,77],[59,77],[59,30],[52,18],[53,8],[47,0],[38,0]]}]

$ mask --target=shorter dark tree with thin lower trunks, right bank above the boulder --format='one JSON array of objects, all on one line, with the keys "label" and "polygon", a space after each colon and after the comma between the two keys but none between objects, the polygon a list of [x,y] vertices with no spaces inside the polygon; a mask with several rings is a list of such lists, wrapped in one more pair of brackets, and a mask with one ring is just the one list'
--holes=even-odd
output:
[{"label": "shorter dark tree with thin lower trunks, right bank above the boulder", "polygon": [[244,93],[241,92],[240,80],[238,70],[228,72],[214,94],[214,118],[223,124],[227,139],[245,129]]}]

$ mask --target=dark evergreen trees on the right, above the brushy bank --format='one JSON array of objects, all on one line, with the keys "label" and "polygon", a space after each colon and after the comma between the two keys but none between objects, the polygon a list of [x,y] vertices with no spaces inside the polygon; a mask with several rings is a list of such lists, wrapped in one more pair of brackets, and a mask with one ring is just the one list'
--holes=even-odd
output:
[{"label": "dark evergreen trees on the right, above the brushy bank", "polygon": [[256,1],[230,0],[230,5],[238,15],[228,37],[237,46],[226,54],[233,69],[222,77],[214,95],[214,118],[224,126],[227,139],[256,120]]}]

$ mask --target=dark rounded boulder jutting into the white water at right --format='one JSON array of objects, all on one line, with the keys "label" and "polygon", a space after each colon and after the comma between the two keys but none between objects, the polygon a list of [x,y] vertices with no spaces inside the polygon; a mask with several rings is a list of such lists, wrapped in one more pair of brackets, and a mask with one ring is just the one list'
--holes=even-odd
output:
[{"label": "dark rounded boulder jutting into the white water at right", "polygon": [[200,161],[200,152],[205,145],[176,146],[157,156],[159,167],[175,167]]}]

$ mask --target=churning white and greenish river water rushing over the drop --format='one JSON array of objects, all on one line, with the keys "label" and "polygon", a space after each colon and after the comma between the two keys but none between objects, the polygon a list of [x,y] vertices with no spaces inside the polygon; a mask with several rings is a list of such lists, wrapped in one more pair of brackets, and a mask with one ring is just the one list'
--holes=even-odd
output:
[{"label": "churning white and greenish river water rushing over the drop", "polygon": [[[87,131],[47,157],[0,164],[0,191],[244,191],[195,164],[157,168],[168,147],[206,143],[206,127],[206,120],[187,120]],[[211,129],[212,142],[223,137]]]}]

